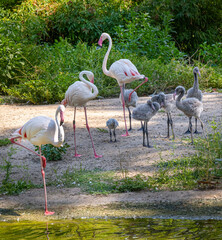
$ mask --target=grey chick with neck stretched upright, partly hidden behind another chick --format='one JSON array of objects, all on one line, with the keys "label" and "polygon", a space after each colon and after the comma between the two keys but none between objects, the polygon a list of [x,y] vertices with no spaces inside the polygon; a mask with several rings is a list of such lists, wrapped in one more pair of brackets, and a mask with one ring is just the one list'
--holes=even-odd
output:
[{"label": "grey chick with neck stretched upright, partly hidden behind another chick", "polygon": [[[199,89],[199,83],[198,83],[198,77],[197,74],[200,76],[200,71],[198,67],[195,67],[193,69],[193,75],[194,75],[194,83],[193,87],[187,90],[187,96],[186,98],[192,98],[195,97],[197,98],[200,102],[202,102],[203,99],[203,94],[202,91]],[[190,129],[188,127],[187,131],[185,134],[190,133]],[[195,131],[194,133],[198,133],[197,131],[197,118],[195,118]]]}]

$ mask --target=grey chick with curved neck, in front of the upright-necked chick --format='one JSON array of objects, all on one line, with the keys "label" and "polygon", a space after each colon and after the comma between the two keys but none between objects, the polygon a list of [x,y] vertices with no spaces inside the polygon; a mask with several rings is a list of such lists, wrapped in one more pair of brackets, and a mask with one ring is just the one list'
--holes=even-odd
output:
[{"label": "grey chick with curved neck, in front of the upright-necked chick", "polygon": [[182,111],[187,117],[189,117],[189,129],[191,132],[191,143],[193,143],[193,131],[192,131],[192,122],[191,118],[195,117],[200,121],[203,133],[203,122],[200,119],[200,115],[203,112],[203,103],[199,101],[197,98],[186,98],[181,100],[185,94],[185,88],[182,86],[178,86],[175,89],[174,97],[178,95],[176,99],[177,108]]}]

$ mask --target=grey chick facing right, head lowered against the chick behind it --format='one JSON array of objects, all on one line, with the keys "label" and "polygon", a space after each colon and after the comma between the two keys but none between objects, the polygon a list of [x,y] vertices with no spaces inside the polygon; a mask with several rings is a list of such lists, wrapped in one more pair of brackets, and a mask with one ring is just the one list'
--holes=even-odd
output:
[{"label": "grey chick facing right, head lowered against the chick behind it", "polygon": [[[158,112],[159,109],[160,109],[159,103],[148,100],[145,104],[138,105],[133,110],[133,118],[135,120],[143,121],[142,128],[143,128],[143,146],[144,147],[151,147],[149,144],[147,125],[150,119]],[[145,144],[145,135],[146,135],[147,144]]]}]

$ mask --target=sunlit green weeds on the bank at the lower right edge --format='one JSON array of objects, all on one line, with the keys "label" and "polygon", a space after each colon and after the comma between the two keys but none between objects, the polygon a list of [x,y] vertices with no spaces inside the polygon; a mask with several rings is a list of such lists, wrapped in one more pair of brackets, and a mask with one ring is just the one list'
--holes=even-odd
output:
[{"label": "sunlit green weeds on the bank at the lower right edge", "polygon": [[197,153],[184,158],[161,161],[150,181],[157,189],[184,190],[198,187],[200,180],[222,176],[221,123],[211,122],[213,132],[195,140]]}]

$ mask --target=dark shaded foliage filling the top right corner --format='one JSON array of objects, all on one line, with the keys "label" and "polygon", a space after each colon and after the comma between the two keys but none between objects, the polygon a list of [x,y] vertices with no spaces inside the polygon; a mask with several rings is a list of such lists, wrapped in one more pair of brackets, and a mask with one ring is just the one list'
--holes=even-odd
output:
[{"label": "dark shaded foliage filling the top right corner", "polygon": [[172,14],[171,34],[186,53],[193,54],[205,41],[221,42],[222,0],[144,0],[138,9],[148,11],[153,24],[161,26],[164,16]]}]

